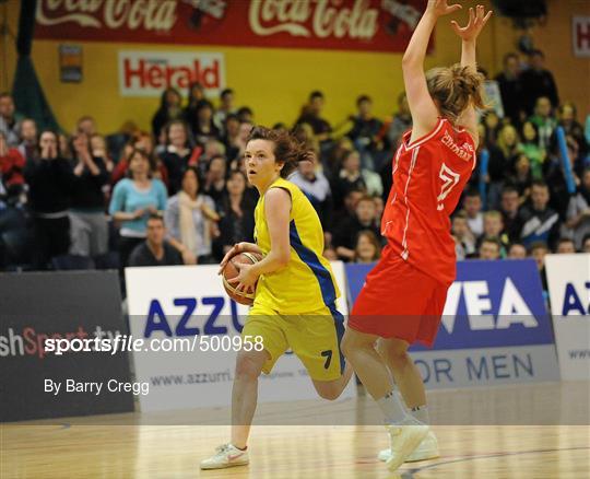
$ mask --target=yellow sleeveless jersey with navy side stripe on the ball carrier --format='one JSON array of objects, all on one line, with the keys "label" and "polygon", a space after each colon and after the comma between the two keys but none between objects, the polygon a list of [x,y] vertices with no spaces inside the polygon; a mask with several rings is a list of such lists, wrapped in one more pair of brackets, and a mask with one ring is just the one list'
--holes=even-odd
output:
[{"label": "yellow sleeveless jersey with navy side stripe on the ball carrier", "polygon": [[[302,190],[286,179],[276,179],[270,188],[283,188],[291,195],[291,258],[285,268],[260,277],[255,305],[270,307],[280,314],[312,313],[324,305],[338,315],[335,300],[340,291],[330,262],[323,257],[323,230],[316,210]],[[256,243],[267,255],[271,241],[264,196],[258,200],[255,220]]]}]

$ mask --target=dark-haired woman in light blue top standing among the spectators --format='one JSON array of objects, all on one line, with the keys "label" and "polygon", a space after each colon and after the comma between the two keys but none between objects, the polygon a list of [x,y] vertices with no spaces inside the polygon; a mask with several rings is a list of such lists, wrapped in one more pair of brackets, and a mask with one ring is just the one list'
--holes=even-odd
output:
[{"label": "dark-haired woman in light blue top standing among the spectators", "polygon": [[128,157],[128,178],[121,179],[113,190],[109,214],[120,224],[120,266],[127,266],[129,255],[145,238],[146,221],[150,214],[158,214],[166,209],[166,187],[153,178],[155,164],[143,150],[133,149]]}]

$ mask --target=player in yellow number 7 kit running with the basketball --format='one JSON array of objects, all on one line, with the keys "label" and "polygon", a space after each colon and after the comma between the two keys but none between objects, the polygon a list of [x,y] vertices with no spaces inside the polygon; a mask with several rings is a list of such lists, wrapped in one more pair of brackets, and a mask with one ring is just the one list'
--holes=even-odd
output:
[{"label": "player in yellow number 7 kit running with the basketball", "polygon": [[340,295],[330,264],[322,257],[323,231],[314,207],[297,186],[284,179],[310,153],[285,131],[257,127],[246,145],[249,182],[260,192],[256,207],[257,244],[239,243],[236,253],[258,253],[255,265],[236,265],[229,280],[238,291],[253,292],[243,337],[260,336],[262,351],[238,352],[232,390],[232,441],[217,447],[201,469],[248,464],[247,441],[258,396],[258,376],[270,373],[291,348],[307,369],[318,394],[337,399],[352,375],[344,364],[340,340],[344,318],[335,308]]}]

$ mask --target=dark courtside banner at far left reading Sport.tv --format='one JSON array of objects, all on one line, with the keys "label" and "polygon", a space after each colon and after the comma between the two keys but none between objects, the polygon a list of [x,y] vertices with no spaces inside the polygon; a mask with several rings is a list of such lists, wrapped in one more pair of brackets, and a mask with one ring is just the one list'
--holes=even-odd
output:
[{"label": "dark courtside banner at far left reading Sport.tv", "polygon": [[0,274],[0,304],[1,421],[133,410],[127,352],[56,354],[46,343],[126,334],[116,272]]}]

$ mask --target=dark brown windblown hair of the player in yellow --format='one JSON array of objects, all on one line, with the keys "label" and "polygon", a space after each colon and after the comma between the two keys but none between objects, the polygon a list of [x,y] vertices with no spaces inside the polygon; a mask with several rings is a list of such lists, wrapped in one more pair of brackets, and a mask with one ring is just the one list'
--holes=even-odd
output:
[{"label": "dark brown windblown hair of the player in yellow", "polygon": [[314,161],[314,151],[305,143],[285,130],[273,130],[266,127],[253,127],[248,136],[248,141],[267,140],[274,143],[274,159],[276,162],[284,163],[281,170],[281,177],[286,178],[299,162]]}]

